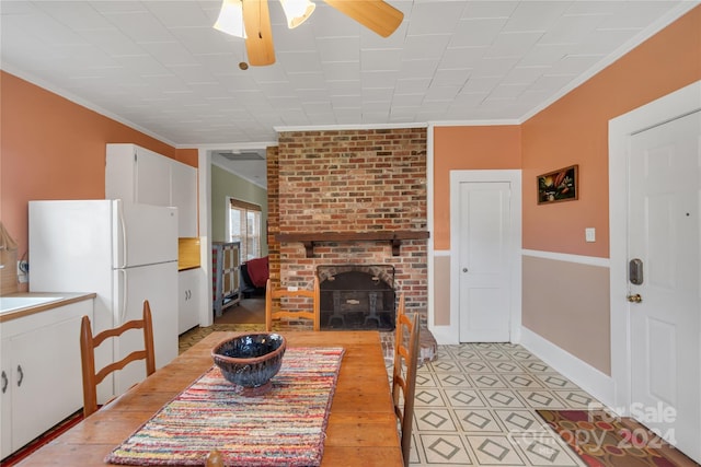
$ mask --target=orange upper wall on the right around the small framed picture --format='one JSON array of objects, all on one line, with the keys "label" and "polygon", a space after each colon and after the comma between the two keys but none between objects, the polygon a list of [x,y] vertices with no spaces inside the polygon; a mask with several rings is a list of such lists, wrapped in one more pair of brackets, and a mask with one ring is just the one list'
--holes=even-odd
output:
[{"label": "orange upper wall on the right around the small framed picture", "polygon": [[[522,125],[527,249],[609,257],[608,120],[701,79],[701,7]],[[536,177],[579,165],[579,199],[537,205]],[[584,229],[596,227],[596,243]]]}]

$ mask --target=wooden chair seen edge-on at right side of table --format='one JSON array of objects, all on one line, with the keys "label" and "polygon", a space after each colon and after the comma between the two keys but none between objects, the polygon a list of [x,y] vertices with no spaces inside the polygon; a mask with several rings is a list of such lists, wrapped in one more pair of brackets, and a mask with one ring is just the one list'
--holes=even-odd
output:
[{"label": "wooden chair seen edge-on at right side of table", "polygon": [[397,331],[394,336],[394,369],[392,372],[392,400],[399,420],[404,466],[409,466],[414,418],[416,364],[418,362],[418,313],[410,318],[404,313],[404,294],[399,299]]}]

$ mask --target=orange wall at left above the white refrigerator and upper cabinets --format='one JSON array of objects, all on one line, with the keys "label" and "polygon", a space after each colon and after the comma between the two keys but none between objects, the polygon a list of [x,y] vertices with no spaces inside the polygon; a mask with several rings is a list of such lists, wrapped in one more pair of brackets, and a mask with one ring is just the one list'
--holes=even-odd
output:
[{"label": "orange wall at left above the white refrigerator and upper cabinets", "polygon": [[105,144],[130,142],[192,166],[177,150],[49,91],[0,71],[0,221],[27,250],[27,201],[104,199]]}]

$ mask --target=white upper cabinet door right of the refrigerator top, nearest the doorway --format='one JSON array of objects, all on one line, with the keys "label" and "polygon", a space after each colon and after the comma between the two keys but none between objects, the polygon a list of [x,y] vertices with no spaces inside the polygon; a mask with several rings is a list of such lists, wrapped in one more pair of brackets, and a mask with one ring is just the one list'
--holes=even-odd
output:
[{"label": "white upper cabinet door right of the refrigerator top, nearest the doorway", "polygon": [[171,206],[177,208],[179,236],[197,236],[197,170],[173,161],[171,171]]}]

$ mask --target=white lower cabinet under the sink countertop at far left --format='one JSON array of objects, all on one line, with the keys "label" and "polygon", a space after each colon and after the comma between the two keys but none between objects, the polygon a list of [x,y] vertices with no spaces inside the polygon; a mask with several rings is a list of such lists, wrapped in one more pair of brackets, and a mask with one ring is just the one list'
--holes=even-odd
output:
[{"label": "white lower cabinet under the sink countertop at far left", "polygon": [[83,406],[80,320],[84,300],[0,323],[0,458]]}]

